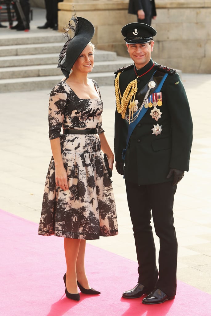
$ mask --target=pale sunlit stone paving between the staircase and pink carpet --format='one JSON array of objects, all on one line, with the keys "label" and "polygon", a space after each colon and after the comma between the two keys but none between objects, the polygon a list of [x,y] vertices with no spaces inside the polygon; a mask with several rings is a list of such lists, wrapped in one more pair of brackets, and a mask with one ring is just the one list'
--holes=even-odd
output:
[{"label": "pale sunlit stone paving between the staircase and pink carpet", "polygon": [[[37,24],[36,21],[33,23],[33,29],[37,32],[35,26],[44,24],[44,19],[39,19]],[[211,107],[208,98],[211,75],[182,74],[182,80],[190,101],[194,140],[190,171],[185,173],[179,183],[174,202],[179,243],[178,279],[211,294]],[[103,127],[113,147],[114,87],[100,88],[104,102]],[[36,223],[40,217],[44,182],[51,156],[47,121],[49,93],[41,90],[0,94],[0,208]],[[136,261],[124,180],[115,170],[112,179],[119,235],[89,243]],[[158,249],[156,236],[155,242]],[[136,282],[131,280],[131,286]]]}]

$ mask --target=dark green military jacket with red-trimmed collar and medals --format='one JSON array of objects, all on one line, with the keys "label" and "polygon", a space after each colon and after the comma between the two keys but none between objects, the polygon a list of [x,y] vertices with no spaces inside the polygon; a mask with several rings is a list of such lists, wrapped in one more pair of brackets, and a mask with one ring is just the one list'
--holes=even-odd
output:
[{"label": "dark green military jacket with red-trimmed collar and medals", "polygon": [[[138,91],[150,81],[156,67],[148,71],[152,66],[151,59],[142,69],[136,70],[138,76],[144,74],[139,77]],[[122,71],[119,77],[121,95],[128,83],[136,78],[134,67]],[[159,107],[162,112],[161,118],[158,121],[153,119],[150,115],[153,107],[148,108],[134,128],[126,150],[125,179],[138,185],[171,181],[172,178],[166,178],[169,168],[189,170],[192,119],[185,89],[177,73],[168,74],[161,88],[161,94],[162,106]],[[161,126],[162,131],[156,136],[152,129],[157,124]],[[116,110],[115,161],[123,161],[122,151],[126,148],[127,131],[126,119],[122,119],[121,114]]]}]

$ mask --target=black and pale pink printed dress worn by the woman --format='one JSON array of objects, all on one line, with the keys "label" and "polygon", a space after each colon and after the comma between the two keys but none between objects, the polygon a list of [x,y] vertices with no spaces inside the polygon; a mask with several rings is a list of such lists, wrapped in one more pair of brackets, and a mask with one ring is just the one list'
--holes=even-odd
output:
[{"label": "black and pale pink printed dress worn by the woman", "polygon": [[[51,158],[46,177],[38,234],[75,239],[99,239],[118,234],[111,180],[100,147],[103,102],[79,99],[65,81],[50,93],[49,137],[60,137],[69,190],[56,185]],[[60,134],[63,129],[97,129],[98,134]]]}]

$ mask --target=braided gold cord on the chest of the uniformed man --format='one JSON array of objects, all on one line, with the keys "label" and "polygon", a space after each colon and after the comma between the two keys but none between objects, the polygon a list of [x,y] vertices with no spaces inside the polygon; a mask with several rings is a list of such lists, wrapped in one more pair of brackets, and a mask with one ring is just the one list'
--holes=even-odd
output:
[{"label": "braided gold cord on the chest of the uniformed man", "polygon": [[[137,88],[137,78],[133,81],[131,81],[124,93],[123,96],[121,96],[121,92],[120,92],[120,87],[119,87],[119,76],[121,74],[121,71],[118,72],[116,78],[115,78],[115,82],[114,82],[114,87],[115,87],[115,95],[116,95],[116,108],[117,108],[117,112],[121,113],[122,115],[122,119],[125,119],[125,113],[126,113],[126,109],[128,106],[128,103],[130,101],[130,105],[129,105],[129,111],[131,110],[131,106],[132,106],[132,116],[133,116],[133,106],[134,106],[134,100],[135,100],[135,95],[136,92],[138,91]],[[133,97],[133,101],[132,101],[132,97]],[[120,100],[121,100],[121,104],[120,104]],[[132,102],[132,104],[131,104]]]}]

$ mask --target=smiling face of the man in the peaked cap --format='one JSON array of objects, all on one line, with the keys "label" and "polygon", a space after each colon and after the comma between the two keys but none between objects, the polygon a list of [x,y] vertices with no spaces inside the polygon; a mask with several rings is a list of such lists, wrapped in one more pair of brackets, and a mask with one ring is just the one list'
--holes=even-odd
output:
[{"label": "smiling face of the man in the peaked cap", "polygon": [[127,44],[127,50],[130,58],[132,58],[138,70],[149,63],[153,46],[154,41],[151,41],[150,44]]}]

